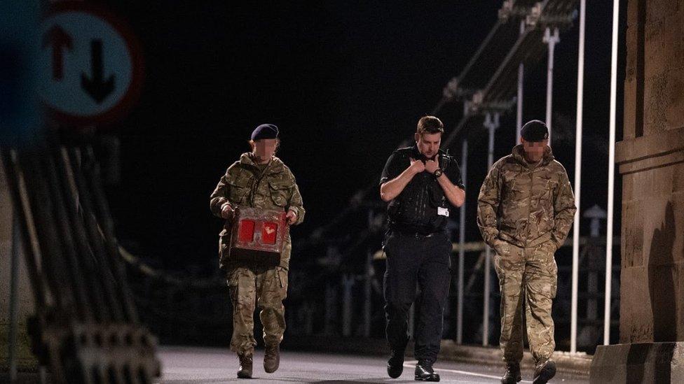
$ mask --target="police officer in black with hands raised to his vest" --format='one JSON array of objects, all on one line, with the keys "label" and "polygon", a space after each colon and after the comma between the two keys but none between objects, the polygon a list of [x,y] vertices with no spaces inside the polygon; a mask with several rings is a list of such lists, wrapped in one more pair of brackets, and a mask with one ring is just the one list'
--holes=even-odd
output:
[{"label": "police officer in black with hands raised to his vest", "polygon": [[390,345],[387,373],[401,376],[409,341],[408,313],[420,290],[415,329],[416,380],[439,381],[432,364],[442,340],[442,318],[449,294],[451,241],[446,221],[463,205],[465,191],[456,159],[439,150],[444,125],[434,116],[418,121],[416,145],[396,150],[385,164],[380,195],[388,201],[388,232],[383,249],[385,333]]}]

